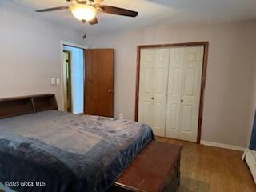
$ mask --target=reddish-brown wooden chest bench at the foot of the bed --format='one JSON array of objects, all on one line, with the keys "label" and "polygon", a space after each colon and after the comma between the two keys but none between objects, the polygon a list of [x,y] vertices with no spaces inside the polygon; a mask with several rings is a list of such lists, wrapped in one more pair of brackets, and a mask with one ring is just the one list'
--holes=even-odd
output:
[{"label": "reddish-brown wooden chest bench at the foot of the bed", "polygon": [[150,142],[115,182],[114,192],[174,192],[180,182],[182,146]]}]

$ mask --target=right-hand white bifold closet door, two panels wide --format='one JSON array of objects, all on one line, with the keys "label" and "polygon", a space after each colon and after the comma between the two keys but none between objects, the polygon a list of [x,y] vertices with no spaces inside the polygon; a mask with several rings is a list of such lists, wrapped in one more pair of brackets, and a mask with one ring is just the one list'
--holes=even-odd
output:
[{"label": "right-hand white bifold closet door, two panels wide", "polygon": [[170,49],[166,137],[196,142],[203,46]]}]

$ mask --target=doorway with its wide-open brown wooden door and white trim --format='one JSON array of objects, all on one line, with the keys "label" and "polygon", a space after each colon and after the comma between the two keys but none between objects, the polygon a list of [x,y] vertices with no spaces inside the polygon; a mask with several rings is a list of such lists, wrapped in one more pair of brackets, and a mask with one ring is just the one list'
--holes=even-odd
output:
[{"label": "doorway with its wide-open brown wooden door and white trim", "polygon": [[114,50],[61,41],[62,105],[73,114],[114,115]]}]

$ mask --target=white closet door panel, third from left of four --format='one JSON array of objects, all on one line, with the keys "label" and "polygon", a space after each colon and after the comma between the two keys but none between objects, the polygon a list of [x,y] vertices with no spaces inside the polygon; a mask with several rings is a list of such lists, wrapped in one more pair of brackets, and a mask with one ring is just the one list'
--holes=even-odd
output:
[{"label": "white closet door panel, third from left of four", "polygon": [[184,48],[170,49],[170,66],[166,106],[166,137],[179,138]]}]

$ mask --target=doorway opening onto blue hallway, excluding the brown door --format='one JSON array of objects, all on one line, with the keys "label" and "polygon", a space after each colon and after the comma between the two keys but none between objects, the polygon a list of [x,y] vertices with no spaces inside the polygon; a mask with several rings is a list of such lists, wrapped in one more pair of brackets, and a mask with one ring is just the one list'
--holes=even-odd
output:
[{"label": "doorway opening onto blue hallway, excluding the brown door", "polygon": [[63,45],[62,81],[64,110],[72,114],[84,112],[84,50]]}]

